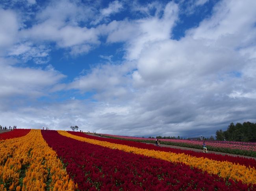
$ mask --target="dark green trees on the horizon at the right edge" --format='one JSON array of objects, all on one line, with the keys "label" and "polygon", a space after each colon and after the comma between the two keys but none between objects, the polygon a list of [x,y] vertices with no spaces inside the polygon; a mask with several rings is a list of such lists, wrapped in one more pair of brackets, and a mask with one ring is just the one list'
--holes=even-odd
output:
[{"label": "dark green trees on the horizon at the right edge", "polygon": [[216,131],[216,140],[256,142],[256,123],[231,123],[226,131]]}]

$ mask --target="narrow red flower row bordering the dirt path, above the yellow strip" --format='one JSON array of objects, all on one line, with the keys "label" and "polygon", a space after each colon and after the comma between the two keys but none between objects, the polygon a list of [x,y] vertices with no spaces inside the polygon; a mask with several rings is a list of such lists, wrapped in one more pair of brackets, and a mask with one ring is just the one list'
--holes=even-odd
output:
[{"label": "narrow red flower row bordering the dirt path, above the yellow strip", "polygon": [[86,135],[84,133],[74,132],[74,131],[68,131],[68,132],[72,135],[82,136],[85,138],[91,138],[91,139],[100,140],[100,141],[107,141],[110,143],[122,144],[122,145],[127,145],[127,146],[142,148],[142,149],[156,150],[156,151],[165,151],[165,152],[172,152],[172,153],[185,153],[186,155],[190,155],[190,156],[204,157],[204,158],[209,158],[209,159],[217,160],[217,161],[228,161],[228,162],[232,162],[234,164],[240,164],[240,165],[245,165],[247,167],[251,166],[251,167],[256,168],[256,160],[254,160],[252,158],[244,158],[244,157],[239,157],[239,156],[234,157],[234,156],[228,156],[228,155],[223,156],[223,155],[216,155],[216,154],[210,154],[210,153],[205,155],[205,153],[198,153],[195,151],[173,149],[173,148],[169,148],[169,147],[156,147],[152,144],[145,144],[145,143],[141,143],[141,142],[119,140],[119,139],[112,139],[112,138],[102,138],[102,137]]}]

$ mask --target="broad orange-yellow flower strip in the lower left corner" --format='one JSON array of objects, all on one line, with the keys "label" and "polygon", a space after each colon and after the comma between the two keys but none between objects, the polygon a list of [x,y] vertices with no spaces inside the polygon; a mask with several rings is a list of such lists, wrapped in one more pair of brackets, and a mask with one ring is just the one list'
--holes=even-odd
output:
[{"label": "broad orange-yellow flower strip in the lower left corner", "polygon": [[[50,190],[74,190],[66,169],[43,139],[41,130],[32,129],[20,138],[0,141],[0,181],[9,190],[46,190],[47,178],[51,179]],[[26,169],[26,171],[24,171]],[[19,177],[24,177],[22,186]],[[0,190],[6,190],[4,184]]]}]

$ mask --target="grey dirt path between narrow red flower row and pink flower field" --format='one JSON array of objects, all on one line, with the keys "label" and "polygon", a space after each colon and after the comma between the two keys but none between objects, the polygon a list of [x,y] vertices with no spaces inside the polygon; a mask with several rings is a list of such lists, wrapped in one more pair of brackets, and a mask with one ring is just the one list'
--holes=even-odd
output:
[{"label": "grey dirt path between narrow red flower row and pink flower field", "polygon": [[[86,133],[86,135],[98,136],[98,135],[94,135],[94,134],[91,134],[91,133],[90,134]],[[107,138],[107,137],[105,137],[105,138]],[[154,143],[145,143],[145,144],[153,144],[154,145]],[[173,146],[173,145],[162,145],[161,144],[161,147],[169,147],[169,148],[174,148],[174,149],[189,150],[189,151],[195,151],[195,152],[198,152],[198,153],[202,153],[203,152],[203,149],[193,149],[193,148],[178,147],[178,146]],[[214,153],[214,154],[217,154],[217,155],[228,155],[228,156],[235,156],[235,157],[238,156],[238,157],[244,157],[244,158],[253,158],[254,160],[256,160],[255,157],[251,157],[251,156],[234,155],[234,154],[221,153],[221,152],[209,151],[209,150],[208,150],[208,153]],[[205,153],[205,154],[207,155],[208,153]]]}]

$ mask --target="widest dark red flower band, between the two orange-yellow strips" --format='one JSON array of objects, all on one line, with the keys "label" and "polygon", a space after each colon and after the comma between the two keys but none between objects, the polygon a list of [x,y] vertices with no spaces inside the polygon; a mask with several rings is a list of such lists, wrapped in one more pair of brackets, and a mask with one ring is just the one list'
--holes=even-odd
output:
[{"label": "widest dark red flower band, between the two orange-yellow strips", "polygon": [[41,132],[67,165],[67,172],[80,190],[248,190],[251,187],[184,164],[80,142],[57,131]]}]

